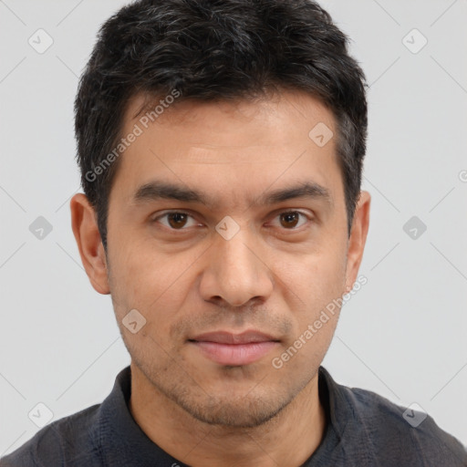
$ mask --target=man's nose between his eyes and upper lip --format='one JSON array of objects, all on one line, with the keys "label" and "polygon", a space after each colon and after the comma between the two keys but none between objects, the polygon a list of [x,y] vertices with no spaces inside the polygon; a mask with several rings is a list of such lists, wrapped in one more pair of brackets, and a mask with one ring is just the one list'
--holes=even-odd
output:
[{"label": "man's nose between his eyes and upper lip", "polygon": [[207,253],[200,284],[205,300],[245,306],[249,300],[271,295],[274,276],[265,248],[255,241],[253,232],[242,228],[229,240],[219,234]]}]

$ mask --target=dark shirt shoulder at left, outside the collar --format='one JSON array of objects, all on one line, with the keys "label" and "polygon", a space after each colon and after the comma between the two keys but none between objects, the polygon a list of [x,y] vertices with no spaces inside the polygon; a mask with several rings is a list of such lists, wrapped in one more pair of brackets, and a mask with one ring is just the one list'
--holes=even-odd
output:
[{"label": "dark shirt shoulder at left, outside the collar", "polygon": [[99,407],[96,404],[47,424],[16,451],[0,459],[0,467],[50,467],[78,461],[87,462],[89,467],[100,465]]}]

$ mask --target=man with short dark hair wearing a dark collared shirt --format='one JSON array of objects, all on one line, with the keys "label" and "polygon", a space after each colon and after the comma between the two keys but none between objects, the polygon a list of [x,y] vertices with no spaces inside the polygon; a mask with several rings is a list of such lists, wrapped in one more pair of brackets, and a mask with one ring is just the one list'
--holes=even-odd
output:
[{"label": "man with short dark hair wearing a dark collared shirt", "polygon": [[2,465],[467,465],[431,417],[410,424],[321,366],[370,206],[365,78],[322,8],[122,8],[81,78],[76,132],[73,232],[131,364]]}]

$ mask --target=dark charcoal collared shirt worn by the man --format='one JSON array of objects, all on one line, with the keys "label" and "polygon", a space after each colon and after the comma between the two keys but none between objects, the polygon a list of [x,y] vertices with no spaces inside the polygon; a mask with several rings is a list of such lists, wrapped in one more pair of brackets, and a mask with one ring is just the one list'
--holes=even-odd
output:
[{"label": "dark charcoal collared shirt worn by the man", "polygon": [[[130,367],[123,368],[101,404],[49,423],[0,466],[186,467],[150,441],[132,418],[130,381]],[[301,467],[467,466],[465,447],[430,416],[423,419],[374,392],[337,384],[323,367],[318,384],[327,428]]]}]

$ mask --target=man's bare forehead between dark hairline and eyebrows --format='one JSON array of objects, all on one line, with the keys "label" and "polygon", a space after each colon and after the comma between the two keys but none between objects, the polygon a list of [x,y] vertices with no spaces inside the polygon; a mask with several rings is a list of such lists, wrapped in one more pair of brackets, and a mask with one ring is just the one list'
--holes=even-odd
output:
[{"label": "man's bare forehead between dark hairline and eyebrows", "polygon": [[231,202],[244,194],[256,197],[268,186],[291,186],[292,180],[317,183],[331,202],[342,192],[336,139],[320,146],[312,138],[316,128],[327,129],[326,138],[336,134],[332,112],[318,99],[299,91],[235,102],[170,105],[163,99],[148,105],[137,96],[125,112],[122,136],[136,128],[139,136],[121,156],[113,187],[127,200],[153,179],[202,187],[213,191],[212,199],[222,188]]}]

